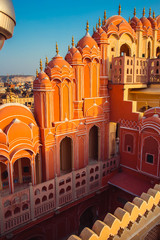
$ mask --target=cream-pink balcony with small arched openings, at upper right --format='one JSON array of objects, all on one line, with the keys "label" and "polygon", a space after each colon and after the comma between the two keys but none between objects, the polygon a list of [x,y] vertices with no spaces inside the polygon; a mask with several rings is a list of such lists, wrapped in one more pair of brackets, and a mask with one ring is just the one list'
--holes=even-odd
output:
[{"label": "cream-pink balcony with small arched openings, at upper right", "polygon": [[124,56],[112,59],[113,84],[160,83],[160,59]]}]

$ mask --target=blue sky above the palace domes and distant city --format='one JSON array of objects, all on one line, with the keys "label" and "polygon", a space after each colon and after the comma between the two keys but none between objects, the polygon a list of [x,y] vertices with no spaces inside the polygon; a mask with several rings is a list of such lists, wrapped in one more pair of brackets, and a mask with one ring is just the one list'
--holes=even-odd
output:
[{"label": "blue sky above the palace domes and distant city", "polygon": [[75,43],[84,36],[87,20],[92,34],[104,10],[107,17],[117,15],[119,3],[126,20],[133,16],[134,7],[139,18],[143,7],[147,17],[149,7],[156,16],[160,14],[159,0],[13,0],[17,25],[13,38],[7,40],[0,51],[0,75],[35,75],[40,58],[44,65],[46,56],[49,61],[54,57],[56,41],[64,57],[72,35]]}]

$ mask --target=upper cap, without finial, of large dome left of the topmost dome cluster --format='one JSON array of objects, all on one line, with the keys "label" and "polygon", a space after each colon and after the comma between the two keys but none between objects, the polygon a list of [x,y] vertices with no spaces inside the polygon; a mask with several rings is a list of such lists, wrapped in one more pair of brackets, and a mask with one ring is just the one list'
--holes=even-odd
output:
[{"label": "upper cap, without finial, of large dome left of the topmost dome cluster", "polygon": [[79,40],[77,44],[77,48],[81,48],[81,49],[83,49],[86,46],[88,46],[91,49],[93,47],[98,49],[98,45],[96,41],[89,35],[89,33],[86,33],[86,35],[81,40]]}]

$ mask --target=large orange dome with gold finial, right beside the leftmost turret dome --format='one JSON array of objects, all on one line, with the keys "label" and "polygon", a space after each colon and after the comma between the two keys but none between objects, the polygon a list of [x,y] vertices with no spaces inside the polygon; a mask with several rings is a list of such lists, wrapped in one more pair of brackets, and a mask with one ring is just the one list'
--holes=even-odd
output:
[{"label": "large orange dome with gold finial, right beside the leftmost turret dome", "polygon": [[51,81],[58,78],[60,80],[73,77],[71,65],[59,55],[58,45],[56,43],[56,56],[46,66],[45,72]]}]

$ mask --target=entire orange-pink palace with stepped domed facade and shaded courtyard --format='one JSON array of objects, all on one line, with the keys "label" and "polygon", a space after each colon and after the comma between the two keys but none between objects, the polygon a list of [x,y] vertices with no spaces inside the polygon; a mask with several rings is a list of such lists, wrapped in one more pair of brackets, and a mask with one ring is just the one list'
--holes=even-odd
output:
[{"label": "entire orange-pink palace with stepped domed facade and shaded courtyard", "polygon": [[104,12],[33,88],[0,106],[1,239],[160,239],[160,15]]}]

